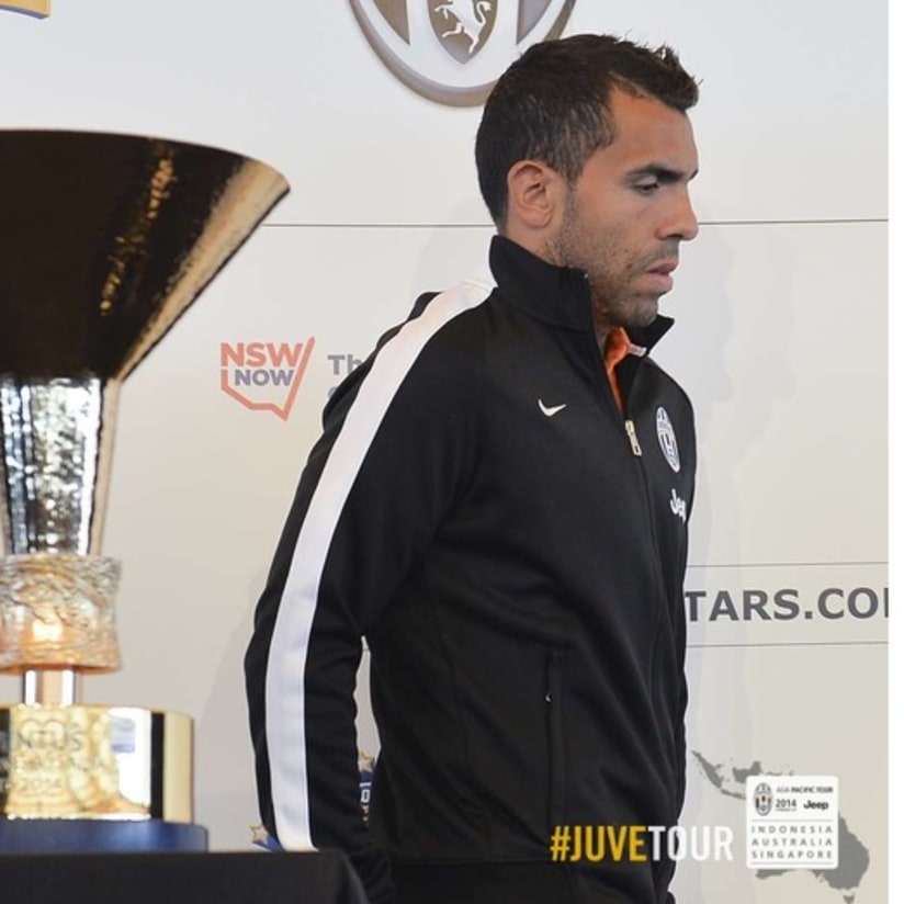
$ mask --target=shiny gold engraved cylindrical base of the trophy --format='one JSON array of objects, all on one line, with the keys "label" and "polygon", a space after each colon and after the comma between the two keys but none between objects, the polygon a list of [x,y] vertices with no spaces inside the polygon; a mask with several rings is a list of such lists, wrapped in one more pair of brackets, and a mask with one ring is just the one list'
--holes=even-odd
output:
[{"label": "shiny gold engraved cylindrical base of the trophy", "polygon": [[0,707],[0,827],[34,820],[191,825],[192,721],[137,707]]}]

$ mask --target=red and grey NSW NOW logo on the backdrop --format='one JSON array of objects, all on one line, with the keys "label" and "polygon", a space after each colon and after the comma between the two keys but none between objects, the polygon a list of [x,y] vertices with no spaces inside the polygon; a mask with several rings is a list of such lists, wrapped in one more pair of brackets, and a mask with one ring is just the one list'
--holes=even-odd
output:
[{"label": "red and grey NSW NOW logo on the backdrop", "polygon": [[219,388],[252,411],[289,420],[314,351],[304,342],[221,342]]}]

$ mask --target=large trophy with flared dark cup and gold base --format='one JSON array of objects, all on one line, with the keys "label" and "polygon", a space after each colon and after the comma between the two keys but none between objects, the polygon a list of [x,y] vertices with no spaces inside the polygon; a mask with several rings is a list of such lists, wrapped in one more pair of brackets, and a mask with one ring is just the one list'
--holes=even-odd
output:
[{"label": "large trophy with flared dark cup and gold base", "polygon": [[101,555],[116,406],[287,190],[216,148],[0,131],[0,671],[22,677],[0,707],[0,840],[27,821],[192,823],[191,720],[81,701],[81,676],[121,664]]}]

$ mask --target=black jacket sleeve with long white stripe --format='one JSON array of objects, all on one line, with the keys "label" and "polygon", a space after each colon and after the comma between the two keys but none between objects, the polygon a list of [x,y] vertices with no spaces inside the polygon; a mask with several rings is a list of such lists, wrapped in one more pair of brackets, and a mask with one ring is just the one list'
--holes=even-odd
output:
[{"label": "black jacket sleeve with long white stripe", "polygon": [[343,850],[372,904],[394,892],[360,807],[352,694],[361,639],[470,468],[473,395],[442,334],[486,294],[464,284],[437,296],[334,394],[245,659],[264,826],[284,849]]}]

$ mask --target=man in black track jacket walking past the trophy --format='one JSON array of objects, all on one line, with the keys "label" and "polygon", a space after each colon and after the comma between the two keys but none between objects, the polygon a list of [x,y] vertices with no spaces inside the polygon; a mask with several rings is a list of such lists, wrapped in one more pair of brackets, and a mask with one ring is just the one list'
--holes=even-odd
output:
[{"label": "man in black track jacket walking past the trophy", "polygon": [[421,296],[327,406],[248,697],[269,833],[347,851],[373,904],[671,901],[632,827],[685,787],[693,416],[648,354],[697,234],[696,100],[667,47],[529,49],[477,135],[495,286]]}]

